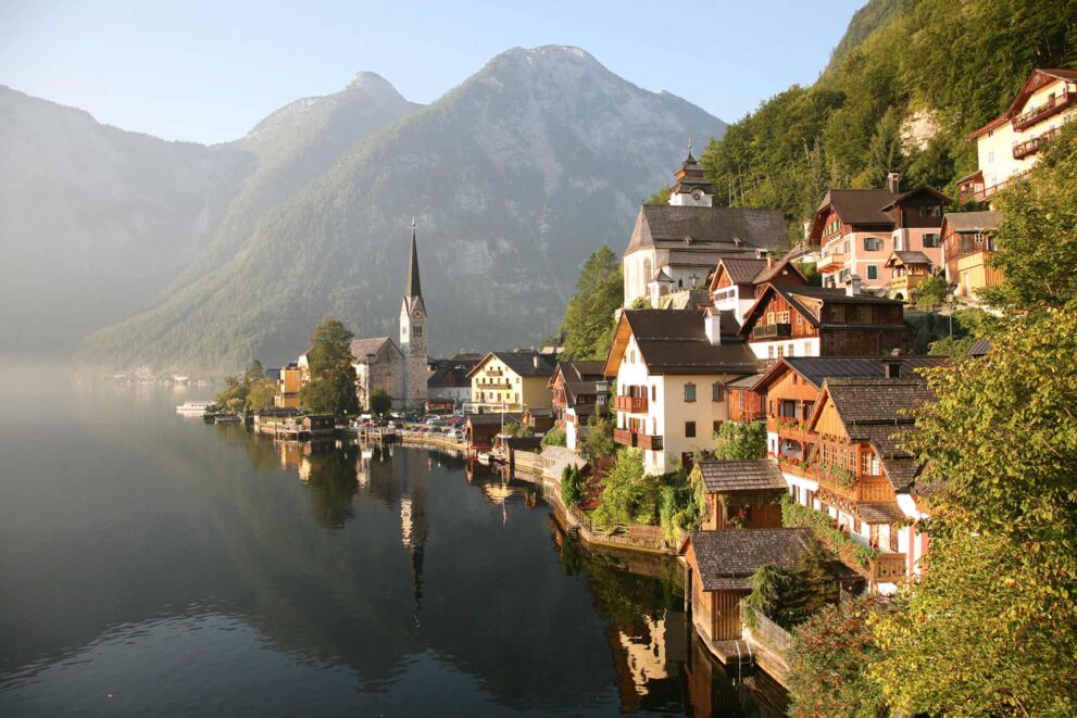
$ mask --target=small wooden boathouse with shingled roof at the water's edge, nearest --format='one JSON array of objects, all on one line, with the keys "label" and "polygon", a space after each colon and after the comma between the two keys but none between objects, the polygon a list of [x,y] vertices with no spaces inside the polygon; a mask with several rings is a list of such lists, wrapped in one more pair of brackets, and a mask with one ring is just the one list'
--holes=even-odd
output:
[{"label": "small wooden boathouse with shingled roof at the water's edge, nearest", "polygon": [[712,653],[741,638],[740,602],[751,593],[752,574],[766,565],[797,570],[812,550],[811,529],[692,531],[680,545],[685,602],[700,638]]}]

